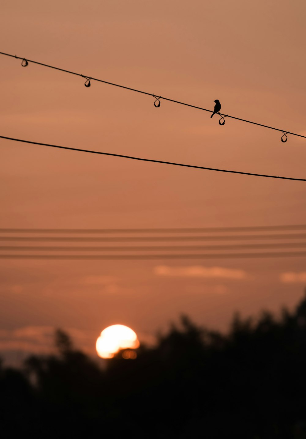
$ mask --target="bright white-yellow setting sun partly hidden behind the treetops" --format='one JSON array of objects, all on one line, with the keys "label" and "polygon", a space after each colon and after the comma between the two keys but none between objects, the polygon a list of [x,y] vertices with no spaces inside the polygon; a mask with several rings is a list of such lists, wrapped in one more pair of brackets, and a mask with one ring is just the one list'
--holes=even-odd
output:
[{"label": "bright white-yellow setting sun partly hidden behind the treetops", "polygon": [[[136,333],[124,325],[112,325],[103,329],[96,341],[96,351],[101,358],[113,358],[120,349],[136,349],[139,341]],[[135,358],[129,356],[128,358]]]}]

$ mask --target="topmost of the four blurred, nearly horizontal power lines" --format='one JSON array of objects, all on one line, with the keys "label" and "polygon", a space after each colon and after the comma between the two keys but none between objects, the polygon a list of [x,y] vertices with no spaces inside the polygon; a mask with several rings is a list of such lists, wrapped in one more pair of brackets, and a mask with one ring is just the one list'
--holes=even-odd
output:
[{"label": "topmost of the four blurred, nearly horizontal power lines", "polygon": [[257,230],[303,230],[306,224],[289,224],[285,226],[241,226],[241,227],[172,227],[172,228],[139,228],[139,229],[21,229],[0,228],[0,233],[74,233],[74,234],[97,234],[97,233],[205,233],[205,232],[251,232]]}]

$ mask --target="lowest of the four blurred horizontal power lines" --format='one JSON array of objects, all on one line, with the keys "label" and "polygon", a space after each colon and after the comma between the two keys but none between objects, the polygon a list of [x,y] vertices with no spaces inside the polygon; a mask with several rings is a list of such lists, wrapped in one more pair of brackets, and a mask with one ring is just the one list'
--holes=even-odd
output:
[{"label": "lowest of the four blurred horizontal power lines", "polygon": [[79,260],[147,260],[147,259],[239,259],[239,258],[285,258],[306,256],[306,252],[277,253],[223,253],[203,255],[0,255],[0,259],[79,259]]}]

